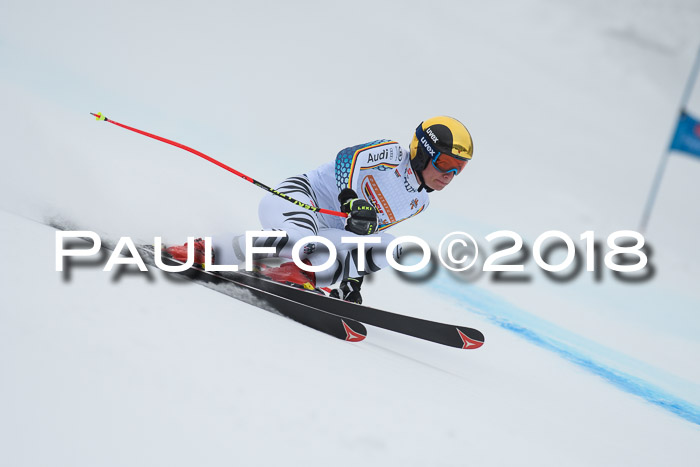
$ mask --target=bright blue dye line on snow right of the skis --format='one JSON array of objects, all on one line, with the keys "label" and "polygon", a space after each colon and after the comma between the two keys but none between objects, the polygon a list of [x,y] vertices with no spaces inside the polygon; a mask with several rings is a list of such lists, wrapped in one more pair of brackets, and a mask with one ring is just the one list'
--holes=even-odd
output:
[{"label": "bright blue dye line on snow right of the skis", "polygon": [[[518,309],[505,300],[501,300],[482,289],[469,286],[456,290],[454,285],[445,283],[443,285],[436,284],[434,287],[453,299],[462,303],[468,303],[470,311],[487,318],[499,327],[514,332],[533,344],[556,353],[566,360],[604,378],[625,392],[642,397],[664,410],[674,413],[691,423],[700,425],[700,407],[697,405],[687,402],[645,379],[633,376],[627,371],[613,368],[600,360],[613,360],[615,363],[622,364],[622,366],[625,366],[625,364],[631,366],[633,363],[639,365],[640,362],[636,362],[600,344],[559,328],[546,320]],[[596,356],[604,358],[597,360]],[[649,368],[647,368],[647,371],[649,371]]]}]

